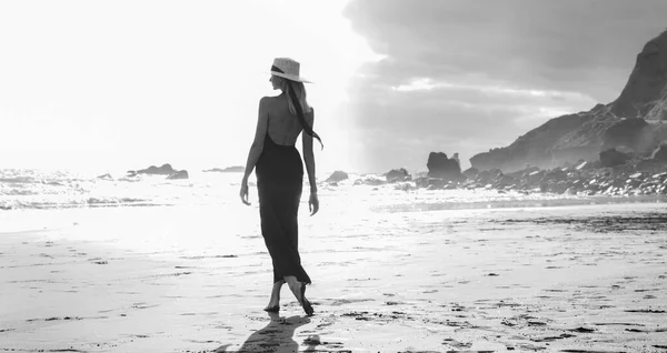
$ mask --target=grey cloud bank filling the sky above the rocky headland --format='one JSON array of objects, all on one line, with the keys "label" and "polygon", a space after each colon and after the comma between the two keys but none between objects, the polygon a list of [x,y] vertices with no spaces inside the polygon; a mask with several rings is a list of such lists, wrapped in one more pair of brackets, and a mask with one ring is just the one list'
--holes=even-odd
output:
[{"label": "grey cloud bank filling the sky above the rocky headland", "polygon": [[385,57],[350,87],[366,165],[424,169],[429,149],[467,159],[616,99],[667,1],[352,0],[345,16]]}]

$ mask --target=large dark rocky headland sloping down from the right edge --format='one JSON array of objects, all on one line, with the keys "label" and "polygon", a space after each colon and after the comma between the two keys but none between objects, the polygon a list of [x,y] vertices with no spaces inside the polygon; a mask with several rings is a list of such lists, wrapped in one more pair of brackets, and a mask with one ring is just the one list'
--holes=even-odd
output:
[{"label": "large dark rocky headland sloping down from the right edge", "polygon": [[526,163],[551,169],[596,160],[601,151],[621,145],[648,154],[667,140],[666,118],[667,31],[637,56],[628,83],[614,102],[551,119],[508,147],[474,155],[470,163],[479,170],[511,172]]}]

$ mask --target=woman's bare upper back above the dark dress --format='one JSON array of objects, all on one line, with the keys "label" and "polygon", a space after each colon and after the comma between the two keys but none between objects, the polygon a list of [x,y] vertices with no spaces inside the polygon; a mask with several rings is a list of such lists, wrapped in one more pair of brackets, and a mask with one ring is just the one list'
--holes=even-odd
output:
[{"label": "woman's bare upper back above the dark dress", "polygon": [[[276,144],[295,145],[303,130],[296,114],[289,111],[287,97],[281,94],[268,100],[269,122],[267,134]],[[305,112],[306,122],[312,125],[312,110]]]}]

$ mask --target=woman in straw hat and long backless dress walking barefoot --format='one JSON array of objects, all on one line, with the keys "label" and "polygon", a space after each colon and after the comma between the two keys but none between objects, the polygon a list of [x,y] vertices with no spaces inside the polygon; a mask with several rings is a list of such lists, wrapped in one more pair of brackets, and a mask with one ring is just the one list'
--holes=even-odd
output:
[{"label": "woman in straw hat and long backless dress walking barefoot", "polygon": [[308,205],[310,215],[313,215],[319,210],[319,201],[315,182],[312,138],[320,143],[321,140],[312,131],[315,111],[306,100],[303,82],[308,81],[299,77],[299,62],[288,58],[273,60],[269,81],[275,90],[281,90],[282,93],[263,97],[259,101],[257,130],[248,154],[240,195],[241,201],[249,205],[248,176],[257,168],[261,234],[273,263],[273,289],[265,311],[280,310],[280,289],[287,282],[310,316],[313,310],[306,299],[306,285],[310,284],[310,278],[301,266],[298,250],[297,214],[303,185],[303,164],[295,143],[301,131],[306,131],[302,137],[303,161],[310,182]]}]

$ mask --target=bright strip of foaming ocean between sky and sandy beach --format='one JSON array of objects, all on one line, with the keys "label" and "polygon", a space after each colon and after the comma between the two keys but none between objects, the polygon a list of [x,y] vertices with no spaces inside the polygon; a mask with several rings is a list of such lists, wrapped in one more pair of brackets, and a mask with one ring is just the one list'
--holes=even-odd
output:
[{"label": "bright strip of foaming ocean between sky and sandy beach", "polygon": [[[329,184],[330,172],[318,175],[322,206],[338,211],[364,210],[420,211],[438,209],[479,209],[506,206],[545,206],[608,202],[661,202],[660,196],[588,196],[552,193],[499,192],[491,189],[426,190],[414,182],[380,185],[358,184],[359,180],[381,174],[349,174],[349,179]],[[190,171],[189,179],[168,180],[166,175],[126,172],[71,172],[40,170],[0,170],[0,210],[62,210],[125,206],[237,206],[240,173]],[[255,174],[250,178],[250,200],[257,201]],[[305,192],[308,186],[305,178]],[[307,208],[308,196],[302,204]]]}]

